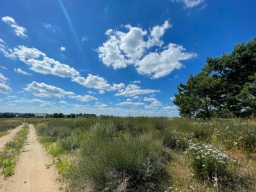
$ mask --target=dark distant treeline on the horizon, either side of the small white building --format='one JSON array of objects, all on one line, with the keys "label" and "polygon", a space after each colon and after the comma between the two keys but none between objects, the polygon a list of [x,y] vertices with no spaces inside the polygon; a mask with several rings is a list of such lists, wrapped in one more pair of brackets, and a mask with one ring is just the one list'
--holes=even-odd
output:
[{"label": "dark distant treeline on the horizon, either side of the small white building", "polygon": [[[68,115],[64,115],[63,113],[53,113],[53,114],[46,114],[46,118],[76,118],[76,117],[92,117],[97,116],[95,114],[88,114],[88,113],[71,113]],[[21,117],[21,118],[34,118],[35,113],[0,113],[0,118],[13,118],[13,117]]]}]

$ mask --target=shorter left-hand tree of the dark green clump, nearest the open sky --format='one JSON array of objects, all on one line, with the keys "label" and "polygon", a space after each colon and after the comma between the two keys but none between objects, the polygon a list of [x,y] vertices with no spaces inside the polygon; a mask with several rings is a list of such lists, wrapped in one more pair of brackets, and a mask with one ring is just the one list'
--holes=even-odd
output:
[{"label": "shorter left-hand tree of the dark green clump, nearest the open sky", "polygon": [[179,106],[180,115],[211,118],[216,104],[220,79],[200,72],[195,77],[189,76],[186,84],[178,86],[173,103]]}]

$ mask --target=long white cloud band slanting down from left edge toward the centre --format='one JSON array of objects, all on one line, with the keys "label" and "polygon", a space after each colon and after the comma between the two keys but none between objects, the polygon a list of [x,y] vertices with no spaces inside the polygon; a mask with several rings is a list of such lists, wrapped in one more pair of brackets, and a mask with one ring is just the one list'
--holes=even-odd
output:
[{"label": "long white cloud band slanting down from left edge toward the centre", "polygon": [[29,65],[29,68],[40,74],[52,74],[59,77],[70,77],[72,81],[82,84],[88,88],[94,88],[104,91],[115,91],[125,87],[124,83],[113,85],[109,84],[106,79],[99,76],[88,74],[87,77],[80,76],[79,72],[65,63],[49,58],[44,52],[36,48],[29,48],[19,45],[14,49],[9,49],[0,44],[0,52],[8,58],[18,58],[20,61]]}]

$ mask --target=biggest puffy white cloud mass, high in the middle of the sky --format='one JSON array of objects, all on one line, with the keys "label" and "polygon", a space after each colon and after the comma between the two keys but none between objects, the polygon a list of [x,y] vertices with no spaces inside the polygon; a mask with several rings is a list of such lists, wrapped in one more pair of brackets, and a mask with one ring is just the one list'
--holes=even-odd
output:
[{"label": "biggest puffy white cloud mass, high in the middle of the sky", "polygon": [[[139,74],[158,79],[182,67],[182,61],[196,56],[177,44],[169,44],[163,49],[158,49],[164,44],[161,38],[166,29],[172,28],[168,20],[161,26],[154,26],[150,33],[130,25],[126,25],[125,28],[126,33],[113,29],[106,31],[108,40],[97,49],[104,65],[115,69],[134,65]],[[154,51],[148,53],[150,49]]]}]

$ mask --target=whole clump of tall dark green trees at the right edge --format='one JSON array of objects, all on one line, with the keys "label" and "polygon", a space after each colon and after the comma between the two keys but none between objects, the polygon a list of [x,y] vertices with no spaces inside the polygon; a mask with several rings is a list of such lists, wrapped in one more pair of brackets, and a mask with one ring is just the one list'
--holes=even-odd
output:
[{"label": "whole clump of tall dark green trees at the right edge", "polygon": [[207,58],[202,71],[180,83],[173,100],[181,116],[231,118],[256,115],[256,38],[230,54]]}]

